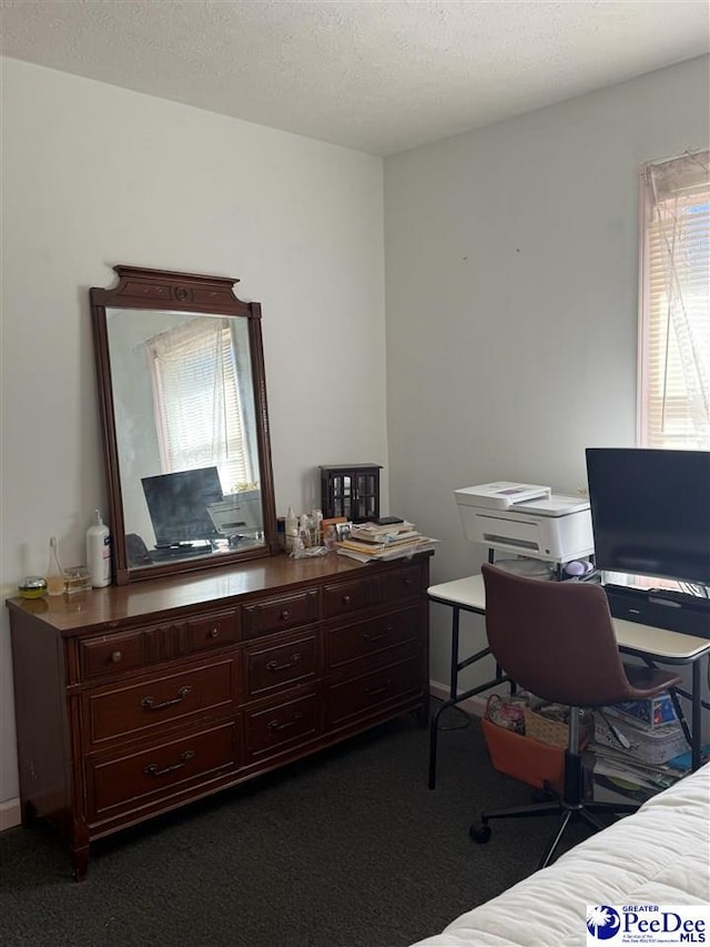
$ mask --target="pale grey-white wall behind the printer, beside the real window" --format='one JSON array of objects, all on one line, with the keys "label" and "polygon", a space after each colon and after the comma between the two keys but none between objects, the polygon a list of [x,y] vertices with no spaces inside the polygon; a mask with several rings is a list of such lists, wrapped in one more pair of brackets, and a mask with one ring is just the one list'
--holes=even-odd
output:
[{"label": "pale grey-white wall behind the printer, beside the real window", "polygon": [[[635,443],[638,169],[708,147],[709,63],[385,160],[389,487],[393,508],[442,540],[435,582],[485,556],[464,538],[456,487],[574,492],[586,446]],[[480,619],[463,627],[481,646]],[[449,628],[433,606],[438,682]]]}]

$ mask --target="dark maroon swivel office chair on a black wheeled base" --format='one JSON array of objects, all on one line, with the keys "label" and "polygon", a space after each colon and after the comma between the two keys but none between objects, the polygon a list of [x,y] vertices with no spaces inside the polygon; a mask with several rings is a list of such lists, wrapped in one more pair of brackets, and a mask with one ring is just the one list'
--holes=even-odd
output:
[{"label": "dark maroon swivel office chair on a black wheeled base", "polygon": [[486,633],[494,657],[526,691],[569,706],[569,742],[561,796],[484,812],[480,823],[471,825],[470,836],[478,843],[488,842],[488,823],[494,818],[558,814],[561,819],[539,864],[545,868],[572,818],[581,818],[598,830],[604,825],[595,813],[623,815],[639,807],[633,803],[617,805],[584,798],[580,709],[656,697],[680,684],[681,678],[670,671],[621,662],[607,596],[600,585],[524,578],[493,565],[484,565],[481,572]]}]

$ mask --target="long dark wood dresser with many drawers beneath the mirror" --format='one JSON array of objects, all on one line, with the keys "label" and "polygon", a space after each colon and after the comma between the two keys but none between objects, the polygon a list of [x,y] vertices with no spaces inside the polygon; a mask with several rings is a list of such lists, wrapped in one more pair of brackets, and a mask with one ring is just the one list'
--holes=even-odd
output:
[{"label": "long dark wood dresser with many drawers beneath the mirror", "polygon": [[407,712],[428,717],[430,553],[285,556],[8,601],[22,820],[89,846]]}]

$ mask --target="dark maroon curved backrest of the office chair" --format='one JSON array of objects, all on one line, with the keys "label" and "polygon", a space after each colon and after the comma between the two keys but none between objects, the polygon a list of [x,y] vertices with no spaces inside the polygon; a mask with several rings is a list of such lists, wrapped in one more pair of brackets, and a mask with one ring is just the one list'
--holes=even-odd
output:
[{"label": "dark maroon curved backrest of the office chair", "polygon": [[520,687],[577,707],[629,698],[600,585],[524,578],[491,565],[481,573],[490,651]]}]

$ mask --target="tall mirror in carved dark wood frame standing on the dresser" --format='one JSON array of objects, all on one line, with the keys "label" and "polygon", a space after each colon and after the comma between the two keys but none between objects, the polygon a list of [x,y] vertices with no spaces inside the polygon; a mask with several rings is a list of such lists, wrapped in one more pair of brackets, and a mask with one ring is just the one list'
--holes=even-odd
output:
[{"label": "tall mirror in carved dark wood frame standing on the dresser", "polygon": [[114,583],[273,555],[260,304],[229,278],[113,269],[90,299]]}]

